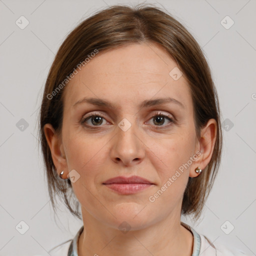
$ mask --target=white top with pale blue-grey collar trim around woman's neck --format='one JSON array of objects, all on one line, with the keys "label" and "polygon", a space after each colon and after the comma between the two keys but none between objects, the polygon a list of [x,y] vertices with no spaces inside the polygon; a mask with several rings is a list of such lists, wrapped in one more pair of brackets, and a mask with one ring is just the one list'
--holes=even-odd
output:
[{"label": "white top with pale blue-grey collar trim around woman's neck", "polygon": [[[252,254],[245,254],[237,248],[227,248],[223,245],[214,245],[211,243],[207,237],[202,234],[198,234],[191,226],[181,222],[183,226],[189,229],[193,233],[193,253],[191,256],[250,256]],[[81,233],[83,227],[79,229],[76,233],[73,240],[68,240],[54,249],[50,250],[49,253],[51,256],[77,256],[77,241],[79,234]],[[69,252],[68,249],[71,244],[74,243],[72,252]]]}]

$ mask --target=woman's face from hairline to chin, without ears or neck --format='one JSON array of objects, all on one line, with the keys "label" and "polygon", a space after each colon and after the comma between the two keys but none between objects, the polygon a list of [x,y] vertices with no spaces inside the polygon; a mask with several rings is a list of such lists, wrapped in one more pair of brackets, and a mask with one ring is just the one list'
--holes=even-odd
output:
[{"label": "woman's face from hairline to chin, without ears or neck", "polygon": [[[85,222],[117,229],[126,221],[135,230],[180,218],[200,145],[189,87],[179,76],[175,61],[157,44],[129,44],[99,51],[66,86],[64,171],[75,170],[72,187]],[[104,184],[132,175],[150,184]]]}]

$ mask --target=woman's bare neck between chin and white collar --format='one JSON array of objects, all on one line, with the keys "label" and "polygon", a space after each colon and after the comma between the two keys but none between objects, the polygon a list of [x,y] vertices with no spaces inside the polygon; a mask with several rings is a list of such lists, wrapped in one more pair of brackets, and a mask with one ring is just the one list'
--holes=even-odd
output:
[{"label": "woman's bare neck between chin and white collar", "polygon": [[193,235],[180,224],[180,216],[127,232],[104,225],[91,215],[86,214],[83,220],[87,221],[78,239],[78,256],[192,255]]}]

